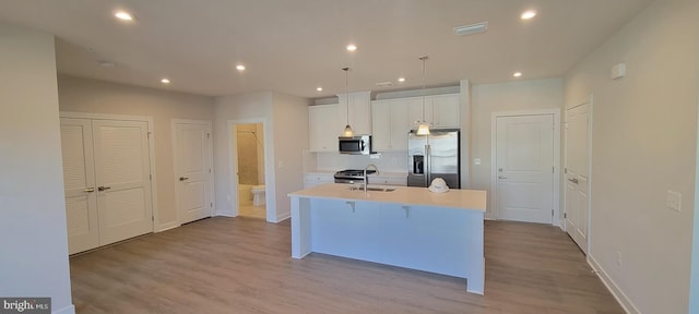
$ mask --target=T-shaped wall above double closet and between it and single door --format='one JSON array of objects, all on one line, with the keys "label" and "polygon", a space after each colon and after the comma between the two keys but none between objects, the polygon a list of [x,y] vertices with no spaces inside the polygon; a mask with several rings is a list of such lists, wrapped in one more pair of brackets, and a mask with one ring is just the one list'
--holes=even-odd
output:
[{"label": "T-shaped wall above double closet and between it and single door", "polygon": [[[103,81],[58,76],[61,111],[153,118],[157,196],[156,231],[178,226],[177,176],[173,159],[173,119],[213,121],[213,98]],[[215,147],[214,147],[215,150]]]}]

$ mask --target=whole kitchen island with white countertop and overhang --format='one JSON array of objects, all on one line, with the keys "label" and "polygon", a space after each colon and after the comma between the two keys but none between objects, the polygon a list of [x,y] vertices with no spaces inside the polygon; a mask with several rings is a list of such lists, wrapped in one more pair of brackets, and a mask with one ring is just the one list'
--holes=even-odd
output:
[{"label": "whole kitchen island with white countertop and overhang", "polygon": [[292,257],[318,252],[465,278],[466,291],[483,294],[486,192],[386,188],[395,190],[328,183],[291,193]]}]

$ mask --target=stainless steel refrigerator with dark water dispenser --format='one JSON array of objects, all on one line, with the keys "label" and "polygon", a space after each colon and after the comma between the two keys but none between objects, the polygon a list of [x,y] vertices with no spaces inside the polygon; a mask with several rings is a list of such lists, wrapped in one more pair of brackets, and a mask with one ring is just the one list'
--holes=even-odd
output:
[{"label": "stainless steel refrigerator with dark water dispenser", "polygon": [[461,189],[460,130],[431,130],[429,135],[407,134],[407,186],[429,186],[441,178],[450,189]]}]

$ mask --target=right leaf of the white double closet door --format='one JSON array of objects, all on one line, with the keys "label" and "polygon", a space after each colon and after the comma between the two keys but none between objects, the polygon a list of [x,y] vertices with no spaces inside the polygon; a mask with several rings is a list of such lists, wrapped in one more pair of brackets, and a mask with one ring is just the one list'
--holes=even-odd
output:
[{"label": "right leaf of the white double closet door", "polygon": [[93,120],[100,245],[153,232],[147,122]]}]

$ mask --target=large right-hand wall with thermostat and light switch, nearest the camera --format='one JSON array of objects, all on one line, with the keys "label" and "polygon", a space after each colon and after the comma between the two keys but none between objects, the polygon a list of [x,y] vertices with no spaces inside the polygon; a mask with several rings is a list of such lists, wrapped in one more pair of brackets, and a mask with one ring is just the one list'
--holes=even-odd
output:
[{"label": "large right-hand wall with thermostat and light switch, nearest the camera", "polygon": [[[567,75],[566,106],[594,95],[588,257],[631,313],[688,311],[697,16],[699,1],[655,1]],[[613,81],[619,62],[628,74]],[[668,190],[682,213],[665,206]]]}]

